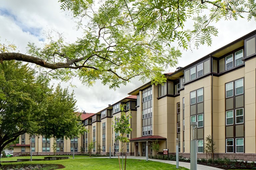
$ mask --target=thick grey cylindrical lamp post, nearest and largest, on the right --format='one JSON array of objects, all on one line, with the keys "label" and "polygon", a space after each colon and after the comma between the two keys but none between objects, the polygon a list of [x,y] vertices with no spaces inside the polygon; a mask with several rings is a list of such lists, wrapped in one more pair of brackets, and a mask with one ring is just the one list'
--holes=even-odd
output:
[{"label": "thick grey cylindrical lamp post, nearest and largest, on the right", "polygon": [[191,122],[190,170],[197,170],[197,122]]}]

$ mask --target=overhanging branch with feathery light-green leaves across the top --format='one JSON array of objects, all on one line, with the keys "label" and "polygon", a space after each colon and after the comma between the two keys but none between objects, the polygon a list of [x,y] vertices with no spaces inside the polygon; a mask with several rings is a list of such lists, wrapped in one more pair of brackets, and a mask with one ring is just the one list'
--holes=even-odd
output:
[{"label": "overhanging branch with feathery light-green leaves across the top", "polygon": [[[163,83],[161,74],[181,56],[178,48],[211,45],[221,19],[256,18],[254,0],[59,0],[79,20],[83,37],[64,37],[44,47],[28,44],[28,54],[0,53],[0,60],[35,63],[53,78],[79,76],[85,84],[101,80],[110,88],[140,80]],[[49,70],[50,69],[50,70]],[[73,70],[73,71],[72,71]]]}]

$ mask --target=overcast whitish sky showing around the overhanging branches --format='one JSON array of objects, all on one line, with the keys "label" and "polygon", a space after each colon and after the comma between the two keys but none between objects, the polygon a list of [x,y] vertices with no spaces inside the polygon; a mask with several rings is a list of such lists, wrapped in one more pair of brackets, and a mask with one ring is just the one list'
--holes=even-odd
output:
[{"label": "overcast whitish sky showing around the overhanging branches", "polygon": [[[43,44],[44,34],[48,30],[63,33],[67,42],[74,42],[82,35],[77,31],[76,23],[72,16],[60,10],[58,0],[0,0],[0,39],[5,39],[15,44],[20,53],[26,53],[28,42]],[[213,37],[212,46],[201,45],[199,49],[182,51],[182,57],[178,60],[178,66],[184,67],[193,61],[209,54],[210,52],[250,33],[256,29],[254,20],[239,19],[238,21],[220,21],[215,25],[218,28],[218,37]],[[170,68],[166,72],[173,72]],[[56,82],[55,82],[56,83]],[[127,93],[138,88],[143,83],[133,80],[127,86],[121,86],[116,91],[109,90],[108,86],[96,82],[93,87],[82,85],[78,79],[73,79],[74,90],[78,111],[84,110],[96,113],[106,108],[108,104],[127,97]],[[68,87],[69,83],[61,83],[62,87]]]}]

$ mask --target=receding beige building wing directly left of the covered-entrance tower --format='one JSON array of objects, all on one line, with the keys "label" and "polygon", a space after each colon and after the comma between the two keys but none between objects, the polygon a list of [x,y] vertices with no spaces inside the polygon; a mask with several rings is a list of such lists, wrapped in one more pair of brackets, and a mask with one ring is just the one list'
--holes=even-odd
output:
[{"label": "receding beige building wing directly left of the covered-entrance tower", "polygon": [[[100,153],[100,154],[109,154],[111,150],[112,155],[116,155],[120,153],[121,150],[121,142],[115,140],[115,138],[119,135],[115,132],[114,124],[118,121],[118,118],[121,117],[121,107],[124,107],[124,112],[126,116],[131,114],[132,118],[130,121],[130,128],[132,128],[132,132],[130,134],[126,134],[128,138],[134,138],[137,134],[137,122],[136,122],[136,99],[137,96],[128,96],[113,105],[109,105],[107,108],[102,111],[96,113],[91,118],[86,119],[85,128],[89,129],[89,132],[86,133],[87,138],[85,151],[88,152],[88,144],[93,142],[93,150],[92,153]],[[115,119],[116,118],[116,119]],[[90,120],[91,119],[91,120]],[[127,155],[134,154],[134,146],[128,143],[123,144],[123,151],[126,152]]]}]

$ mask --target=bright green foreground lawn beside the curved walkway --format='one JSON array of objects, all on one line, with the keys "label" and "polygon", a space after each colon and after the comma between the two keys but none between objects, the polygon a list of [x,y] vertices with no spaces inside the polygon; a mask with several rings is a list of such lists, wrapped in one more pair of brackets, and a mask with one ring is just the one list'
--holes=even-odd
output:
[{"label": "bright green foreground lawn beside the curved walkway", "polygon": [[[64,159],[56,161],[32,161],[32,162],[15,162],[15,163],[2,163],[2,165],[10,164],[61,164],[66,168],[63,170],[119,170],[118,159],[116,158],[88,158],[88,159]],[[147,170],[173,170],[176,165],[154,162],[138,159],[127,159],[126,169],[147,169]],[[180,170],[188,170],[187,168],[180,167]]]}]

